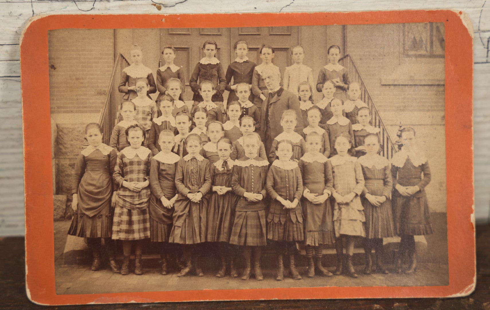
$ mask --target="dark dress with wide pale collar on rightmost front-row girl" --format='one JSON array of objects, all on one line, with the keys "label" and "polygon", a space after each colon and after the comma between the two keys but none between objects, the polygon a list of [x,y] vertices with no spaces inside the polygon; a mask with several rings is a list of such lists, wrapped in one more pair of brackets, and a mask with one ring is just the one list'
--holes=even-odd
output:
[{"label": "dark dress with wide pale collar on rightmost front-row girl", "polygon": [[[397,152],[392,157],[393,216],[398,235],[420,235],[433,233],[425,186],[431,181],[427,158],[421,154]],[[400,195],[396,184],[420,188],[409,197]]]}]

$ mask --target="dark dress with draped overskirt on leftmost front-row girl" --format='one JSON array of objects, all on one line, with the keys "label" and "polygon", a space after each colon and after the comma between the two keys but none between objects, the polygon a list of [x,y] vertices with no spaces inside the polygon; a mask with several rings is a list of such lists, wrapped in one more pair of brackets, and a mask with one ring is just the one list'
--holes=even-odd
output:
[{"label": "dark dress with draped overskirt on leftmost front-row girl", "polygon": [[68,234],[77,237],[105,238],[112,235],[111,197],[116,150],[101,143],[88,146],[78,155],[72,179],[72,194],[78,205]]}]

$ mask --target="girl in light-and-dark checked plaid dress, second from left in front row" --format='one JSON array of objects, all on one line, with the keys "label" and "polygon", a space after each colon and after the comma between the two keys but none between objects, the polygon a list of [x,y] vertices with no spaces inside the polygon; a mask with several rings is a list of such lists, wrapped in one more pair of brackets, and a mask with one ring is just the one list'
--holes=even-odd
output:
[{"label": "girl in light-and-dark checked plaid dress, second from left in front row", "polygon": [[129,256],[134,243],[136,248],[134,274],[142,275],[142,240],[150,237],[148,185],[151,151],[142,146],[145,130],[141,126],[129,126],[126,129],[126,136],[130,146],[119,153],[113,175],[119,189],[116,195],[112,238],[123,240],[124,261],[121,274],[129,274]]}]

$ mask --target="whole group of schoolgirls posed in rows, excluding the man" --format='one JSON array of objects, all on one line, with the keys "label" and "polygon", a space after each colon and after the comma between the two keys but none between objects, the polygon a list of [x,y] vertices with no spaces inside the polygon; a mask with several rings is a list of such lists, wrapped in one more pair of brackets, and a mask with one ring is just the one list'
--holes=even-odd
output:
[{"label": "whole group of schoolgirls posed in rows, excluding the man", "polygon": [[[235,247],[240,246],[245,258],[242,279],[253,271],[263,280],[262,248],[271,244],[277,257],[276,280],[284,279],[286,255],[292,278],[301,279],[294,258],[303,243],[309,277],[315,271],[332,275],[321,258],[323,248],[333,244],[333,274],[357,277],[352,265],[356,238],[364,237],[364,272],[371,273],[374,265],[376,271],[388,273],[382,262],[383,238],[398,235],[396,271],[413,273],[414,235],[432,233],[424,191],[430,181],[428,162],[412,128],[398,132],[400,151],[391,163],[378,155],[383,148],[379,129],[369,124],[369,108],[359,99],[360,85],[349,82],[338,63],[340,48],[327,51],[330,62],[316,85],[324,96],[319,103],[311,99],[313,83],[311,69],[302,65],[304,50],[293,49],[295,64],[286,68],[283,86],[295,88],[308,126],[295,132],[296,111],[282,111],[283,132],[268,153],[256,131],[268,91],[260,72],[274,66],[273,48],[264,46],[263,63],[255,66],[246,57],[246,42],[238,41],[237,59],[224,76],[214,58],[216,43],[206,41],[203,49],[206,57],[190,80],[195,93],[190,110],[182,101],[185,79],[173,64],[175,51],[169,47],[162,52],[165,65],[157,71],[155,86],[135,47],[132,65],[123,71],[119,89],[126,101],[110,145],[102,143],[98,124],[87,125],[89,146],[75,165],[75,215],[69,234],[87,238],[92,270],[101,267],[104,238],[114,272],[129,273],[134,245],[134,273],[143,274],[142,240],[150,238],[160,243],[162,274],[168,273],[168,243],[180,245],[184,263],[178,276],[191,270],[202,276],[202,244],[213,242],[221,258],[216,276],[223,277],[228,265],[230,275],[238,276]],[[278,68],[277,74],[280,77]],[[155,89],[160,92],[157,103],[148,96]],[[224,90],[230,91],[226,113]],[[123,244],[121,268],[114,259],[114,239]]]}]

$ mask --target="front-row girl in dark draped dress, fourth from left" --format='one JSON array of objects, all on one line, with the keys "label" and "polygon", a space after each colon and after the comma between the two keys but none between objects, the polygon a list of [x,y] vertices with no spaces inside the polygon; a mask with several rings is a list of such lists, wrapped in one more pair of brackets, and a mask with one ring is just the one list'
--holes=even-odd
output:
[{"label": "front-row girl in dark draped dress, fourth from left", "polygon": [[[183,245],[186,266],[178,274],[186,276],[192,269],[191,256],[198,255],[195,245],[206,241],[207,193],[211,188],[209,160],[202,157],[201,138],[191,133],[185,139],[188,154],[179,160],[175,171],[175,187],[178,196],[173,211],[173,227],[169,242]],[[195,259],[196,275],[204,274]]]}]

